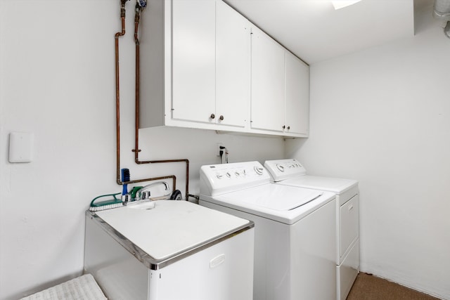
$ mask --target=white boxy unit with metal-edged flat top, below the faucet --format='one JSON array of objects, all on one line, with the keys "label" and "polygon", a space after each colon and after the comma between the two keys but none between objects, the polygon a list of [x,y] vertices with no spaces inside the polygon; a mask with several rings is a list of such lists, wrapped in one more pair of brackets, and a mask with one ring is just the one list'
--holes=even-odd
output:
[{"label": "white boxy unit with metal-edged flat top, below the faucet", "polygon": [[86,211],[84,270],[113,300],[251,300],[253,227],[186,201]]}]

